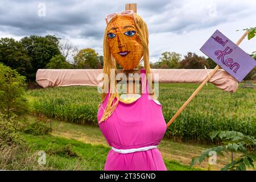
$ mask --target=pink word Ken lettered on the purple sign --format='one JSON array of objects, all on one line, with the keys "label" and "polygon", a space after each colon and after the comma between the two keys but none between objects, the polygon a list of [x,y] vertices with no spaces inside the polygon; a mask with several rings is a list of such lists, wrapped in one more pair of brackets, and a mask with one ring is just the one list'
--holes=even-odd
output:
[{"label": "pink word Ken lettered on the purple sign", "polygon": [[237,73],[237,70],[240,68],[240,65],[238,63],[233,63],[233,59],[232,58],[228,58],[225,60],[225,55],[228,55],[229,53],[231,53],[233,51],[233,49],[230,49],[229,47],[226,47],[224,49],[224,51],[215,51],[214,55],[218,56],[217,59],[220,60],[221,58],[221,63],[225,64],[227,67],[229,67],[231,70],[233,68],[235,68],[233,70],[234,73]]}]

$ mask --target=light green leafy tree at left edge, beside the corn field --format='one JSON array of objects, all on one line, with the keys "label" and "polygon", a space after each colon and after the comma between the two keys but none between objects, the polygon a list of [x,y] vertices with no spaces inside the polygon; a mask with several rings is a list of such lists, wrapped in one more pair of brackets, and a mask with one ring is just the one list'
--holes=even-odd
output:
[{"label": "light green leafy tree at left edge, beside the corn field", "polygon": [[0,114],[6,119],[27,113],[26,78],[0,63]]}]

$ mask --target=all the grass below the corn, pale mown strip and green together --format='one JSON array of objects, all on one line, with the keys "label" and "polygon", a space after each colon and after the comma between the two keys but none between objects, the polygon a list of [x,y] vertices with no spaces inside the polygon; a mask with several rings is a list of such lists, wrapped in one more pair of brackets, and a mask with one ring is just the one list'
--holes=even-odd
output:
[{"label": "all the grass below the corn, pale mown strip and green together", "polygon": [[[36,119],[35,116],[29,116],[30,121]],[[48,126],[50,123],[48,123]],[[52,133],[43,136],[33,136],[24,134],[28,143],[34,146],[34,151],[46,151],[48,158],[48,167],[53,169],[82,169],[82,170],[102,170],[106,156],[110,147],[106,142],[98,127],[86,126],[77,123],[61,122],[51,119]],[[48,155],[52,153],[49,148],[59,148],[70,144],[72,151],[77,157],[70,158],[63,152],[57,155]],[[54,147],[52,147],[54,145]],[[175,142],[172,139],[164,138],[158,146],[164,163],[168,170],[219,170],[229,162],[230,156],[217,156],[217,164],[209,165],[205,160],[200,166],[189,168],[191,158],[199,156],[201,151],[209,148],[207,145]],[[62,149],[62,150],[60,150]],[[64,151],[67,152],[67,151]],[[238,155],[238,154],[237,154]],[[236,158],[237,155],[234,155]]]}]

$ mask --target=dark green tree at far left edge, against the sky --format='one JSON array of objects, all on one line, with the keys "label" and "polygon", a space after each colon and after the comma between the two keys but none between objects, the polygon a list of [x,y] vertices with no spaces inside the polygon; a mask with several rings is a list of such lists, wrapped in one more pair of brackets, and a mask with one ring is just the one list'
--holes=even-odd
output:
[{"label": "dark green tree at far left edge, against the sky", "polygon": [[0,39],[0,62],[16,69],[20,75],[30,77],[32,65],[22,43],[13,38]]}]

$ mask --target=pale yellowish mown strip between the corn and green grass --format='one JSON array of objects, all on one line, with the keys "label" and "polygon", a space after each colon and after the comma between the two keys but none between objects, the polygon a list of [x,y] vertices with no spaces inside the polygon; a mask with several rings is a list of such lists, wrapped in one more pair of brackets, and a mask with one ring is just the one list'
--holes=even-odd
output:
[{"label": "pale yellowish mown strip between the corn and green grass", "polygon": [[[35,121],[36,118],[33,115],[28,116],[30,121]],[[42,119],[44,120],[44,119]],[[46,119],[49,120],[50,119]],[[50,123],[47,124],[50,126]],[[99,127],[93,127],[88,125],[81,125],[78,123],[61,122],[55,119],[51,119],[52,133],[54,137],[61,137],[66,139],[76,140],[86,144],[92,144],[92,146],[102,145],[109,147],[106,139],[101,133]],[[172,170],[172,163],[177,162],[183,167],[187,167],[191,162],[192,157],[197,157],[201,152],[210,146],[198,143],[189,142],[175,142],[172,139],[163,138],[159,143],[159,150],[163,156],[164,161],[168,169]],[[236,158],[237,154],[234,154]],[[211,170],[218,170],[225,166],[230,160],[230,155],[218,156],[217,165],[210,167]],[[196,168],[208,169],[208,161],[205,160],[200,166],[196,165]],[[185,168],[184,168],[185,169]]]}]

